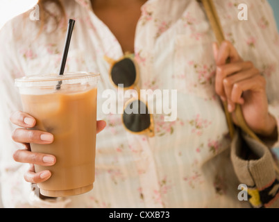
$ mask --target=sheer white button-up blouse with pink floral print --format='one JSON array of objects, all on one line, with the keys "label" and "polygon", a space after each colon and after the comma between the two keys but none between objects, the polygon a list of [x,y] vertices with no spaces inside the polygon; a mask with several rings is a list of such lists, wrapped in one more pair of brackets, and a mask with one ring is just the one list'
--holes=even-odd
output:
[{"label": "sheer white button-up blouse with pink floral print", "polygon": [[[22,110],[14,79],[58,73],[65,41],[62,24],[49,20],[42,33],[29,12],[0,32],[1,190],[5,207],[247,207],[239,201],[239,182],[230,162],[226,117],[214,91],[216,41],[196,0],[149,0],[135,35],[141,89],[177,89],[176,121],[154,114],[155,137],[128,133],[121,114],[103,114],[109,65],[124,55],[109,28],[94,15],[89,0],[64,1],[76,19],[65,71],[101,73],[98,119],[107,127],[97,135],[94,189],[79,196],[40,200],[24,181],[28,164],[12,160],[20,148],[11,139],[10,112]],[[269,111],[279,119],[279,37],[265,0],[215,0],[226,38],[244,60],[267,78]],[[239,21],[238,5],[248,6]],[[49,5],[55,15],[56,8]]]}]

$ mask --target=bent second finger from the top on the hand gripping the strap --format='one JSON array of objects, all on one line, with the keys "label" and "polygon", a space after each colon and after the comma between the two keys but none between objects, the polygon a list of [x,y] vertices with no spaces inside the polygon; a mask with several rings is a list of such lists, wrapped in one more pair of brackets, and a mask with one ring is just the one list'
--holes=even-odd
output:
[{"label": "bent second finger from the top on the hand gripping the strap", "polygon": [[[234,62],[227,65],[221,65],[217,67],[215,78],[215,90],[223,101],[226,100],[226,92],[223,87],[223,80],[232,74],[239,71],[251,69],[253,67],[252,62]],[[234,76],[234,75],[233,75]]]}]

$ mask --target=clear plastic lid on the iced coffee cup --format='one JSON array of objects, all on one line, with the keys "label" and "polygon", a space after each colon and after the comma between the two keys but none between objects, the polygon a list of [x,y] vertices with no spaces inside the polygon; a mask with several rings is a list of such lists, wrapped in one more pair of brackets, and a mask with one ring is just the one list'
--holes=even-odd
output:
[{"label": "clear plastic lid on the iced coffee cup", "polygon": [[100,79],[100,74],[88,73],[88,72],[74,72],[64,75],[47,74],[47,75],[35,75],[24,76],[23,78],[15,79],[15,86],[19,88],[26,87],[56,87],[58,83],[62,81],[62,85],[96,85]]}]

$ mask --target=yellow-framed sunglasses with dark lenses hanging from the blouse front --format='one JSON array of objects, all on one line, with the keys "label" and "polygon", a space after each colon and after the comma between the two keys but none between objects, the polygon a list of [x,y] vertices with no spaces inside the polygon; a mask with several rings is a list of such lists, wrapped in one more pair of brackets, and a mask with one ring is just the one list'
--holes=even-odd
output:
[{"label": "yellow-framed sunglasses with dark lenses hanging from the blouse front", "polygon": [[110,64],[110,81],[115,87],[123,85],[124,90],[136,89],[137,98],[129,99],[124,105],[122,123],[126,130],[134,134],[146,134],[154,136],[153,115],[149,114],[149,109],[145,101],[140,99],[140,90],[137,87],[138,69],[134,56],[126,53],[119,60],[113,60],[108,56],[104,59]]}]

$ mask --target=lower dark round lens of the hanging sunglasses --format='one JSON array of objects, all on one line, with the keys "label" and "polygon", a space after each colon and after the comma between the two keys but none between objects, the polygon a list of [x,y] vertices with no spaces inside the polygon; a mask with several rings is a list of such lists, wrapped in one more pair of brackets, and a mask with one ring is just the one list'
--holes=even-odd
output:
[{"label": "lower dark round lens of the hanging sunglasses", "polygon": [[128,103],[124,110],[123,122],[128,130],[135,133],[149,128],[151,120],[146,105],[137,100]]}]

